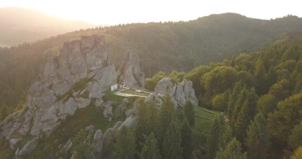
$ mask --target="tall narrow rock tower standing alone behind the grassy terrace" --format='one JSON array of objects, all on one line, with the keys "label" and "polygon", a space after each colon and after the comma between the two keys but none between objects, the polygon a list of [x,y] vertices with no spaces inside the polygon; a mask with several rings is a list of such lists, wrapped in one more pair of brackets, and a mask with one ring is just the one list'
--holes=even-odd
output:
[{"label": "tall narrow rock tower standing alone behind the grassy terrace", "polygon": [[118,72],[118,83],[128,87],[145,87],[145,73],[141,72],[139,56],[127,50]]}]

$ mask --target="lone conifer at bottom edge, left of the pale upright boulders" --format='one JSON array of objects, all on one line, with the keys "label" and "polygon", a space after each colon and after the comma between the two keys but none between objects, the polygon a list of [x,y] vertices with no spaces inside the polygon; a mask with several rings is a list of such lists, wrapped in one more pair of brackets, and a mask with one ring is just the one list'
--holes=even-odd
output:
[{"label": "lone conifer at bottom edge, left of the pale upright boulders", "polygon": [[83,129],[77,132],[73,143],[73,151],[76,152],[75,159],[94,159],[94,146]]}]

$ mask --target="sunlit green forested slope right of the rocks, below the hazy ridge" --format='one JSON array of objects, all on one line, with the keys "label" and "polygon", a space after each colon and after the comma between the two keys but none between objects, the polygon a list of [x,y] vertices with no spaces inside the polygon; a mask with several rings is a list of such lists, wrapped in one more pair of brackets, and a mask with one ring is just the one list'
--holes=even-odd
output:
[{"label": "sunlit green forested slope right of the rocks, below the hazy ridge", "polygon": [[[249,159],[290,158],[295,151],[300,156],[292,159],[302,158],[301,37],[302,32],[284,34],[259,52],[200,66],[183,76],[193,81],[199,106],[224,112],[228,121],[227,128],[219,126],[223,121],[214,122],[218,130],[210,141],[217,141],[207,143],[213,153],[208,159],[225,148],[226,143],[218,144],[225,131],[232,132],[232,143],[241,143],[240,152]],[[166,75],[148,79],[147,87],[161,77]]]}]

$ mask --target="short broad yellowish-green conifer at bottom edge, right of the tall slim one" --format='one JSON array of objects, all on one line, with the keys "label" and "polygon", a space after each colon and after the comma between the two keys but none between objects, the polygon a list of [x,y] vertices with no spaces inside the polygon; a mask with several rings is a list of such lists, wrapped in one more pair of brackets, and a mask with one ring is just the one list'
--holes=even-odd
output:
[{"label": "short broad yellowish-green conifer at bottom edge, right of the tall slim one", "polygon": [[215,159],[246,159],[246,153],[241,153],[241,144],[233,138],[225,149],[217,152]]}]

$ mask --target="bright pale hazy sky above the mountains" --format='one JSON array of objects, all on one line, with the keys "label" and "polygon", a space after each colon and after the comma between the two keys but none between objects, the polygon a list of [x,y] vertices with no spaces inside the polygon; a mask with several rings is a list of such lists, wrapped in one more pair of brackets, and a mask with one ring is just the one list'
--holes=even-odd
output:
[{"label": "bright pale hazy sky above the mountains", "polygon": [[1,0],[0,7],[27,7],[93,24],[119,24],[187,21],[225,12],[260,19],[302,17],[301,4],[302,0]]}]

